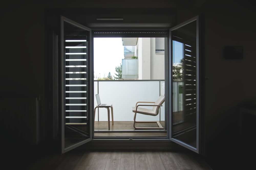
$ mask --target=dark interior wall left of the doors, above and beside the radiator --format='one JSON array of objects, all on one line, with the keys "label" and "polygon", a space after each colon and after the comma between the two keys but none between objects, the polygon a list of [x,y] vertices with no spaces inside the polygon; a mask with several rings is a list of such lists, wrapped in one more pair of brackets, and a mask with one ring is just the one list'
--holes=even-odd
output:
[{"label": "dark interior wall left of the doors, above and beside the radiator", "polygon": [[[41,5],[13,3],[1,6],[1,96],[39,97],[40,134],[45,140],[46,65],[44,13]],[[49,88],[49,87],[48,87]],[[49,103],[48,103],[49,105]],[[4,114],[4,113],[1,113]],[[11,122],[10,122],[11,123]],[[8,127],[3,127],[6,131]]]}]

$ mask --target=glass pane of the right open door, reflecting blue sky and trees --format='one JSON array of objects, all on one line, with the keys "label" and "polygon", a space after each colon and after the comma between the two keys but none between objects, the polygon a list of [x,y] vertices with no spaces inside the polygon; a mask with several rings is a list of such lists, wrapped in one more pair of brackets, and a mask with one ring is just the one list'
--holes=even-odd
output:
[{"label": "glass pane of the right open door, reflecting blue sky and trees", "polygon": [[196,21],[172,31],[172,138],[196,148],[197,35]]}]

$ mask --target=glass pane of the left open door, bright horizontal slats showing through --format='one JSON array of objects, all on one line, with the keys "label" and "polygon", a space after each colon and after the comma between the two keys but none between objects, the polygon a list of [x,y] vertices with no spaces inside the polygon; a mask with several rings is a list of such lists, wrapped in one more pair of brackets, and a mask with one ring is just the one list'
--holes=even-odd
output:
[{"label": "glass pane of the left open door, bright horizontal slats showing through", "polygon": [[64,136],[68,147],[89,138],[88,31],[64,22]]}]

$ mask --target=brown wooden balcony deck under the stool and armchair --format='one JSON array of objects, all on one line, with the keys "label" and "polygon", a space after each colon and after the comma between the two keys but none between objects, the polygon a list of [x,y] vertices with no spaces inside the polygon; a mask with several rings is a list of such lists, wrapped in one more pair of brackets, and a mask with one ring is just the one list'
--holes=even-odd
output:
[{"label": "brown wooden balcony deck under the stool and armchair", "polygon": [[[164,121],[161,121],[164,127]],[[157,127],[156,123],[142,123],[138,127]],[[114,121],[110,122],[108,130],[108,121],[95,121],[94,137],[167,137],[166,130],[135,130],[133,121]]]}]

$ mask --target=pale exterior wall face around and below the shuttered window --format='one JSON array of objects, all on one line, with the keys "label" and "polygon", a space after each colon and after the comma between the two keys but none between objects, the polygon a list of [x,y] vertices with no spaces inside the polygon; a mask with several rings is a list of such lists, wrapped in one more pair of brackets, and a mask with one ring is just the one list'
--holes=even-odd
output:
[{"label": "pale exterior wall face around and below the shuttered window", "polygon": [[164,80],[164,54],[156,54],[156,38],[150,39],[150,80]]}]

